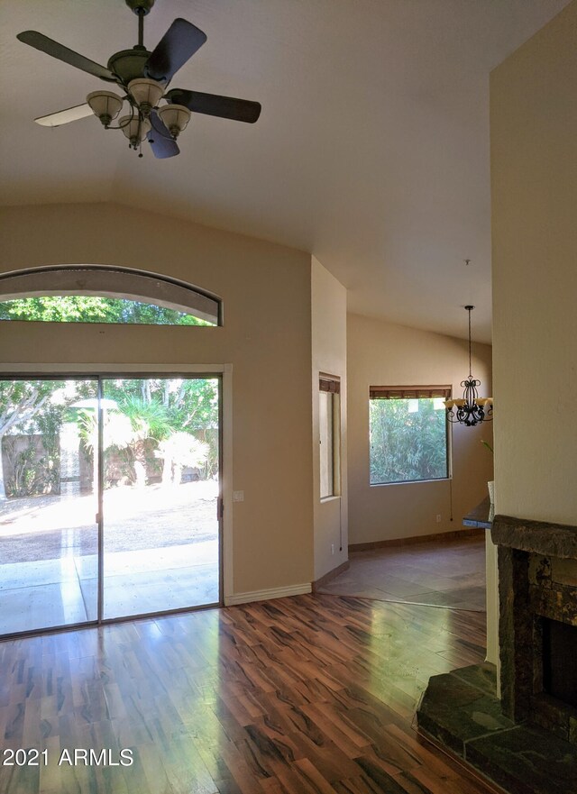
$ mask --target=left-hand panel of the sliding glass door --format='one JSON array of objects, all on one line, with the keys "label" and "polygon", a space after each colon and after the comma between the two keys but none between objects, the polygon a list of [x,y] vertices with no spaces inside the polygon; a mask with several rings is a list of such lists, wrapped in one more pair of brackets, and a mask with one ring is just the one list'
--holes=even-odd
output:
[{"label": "left-hand panel of the sliding glass door", "polygon": [[0,634],[96,620],[97,387],[0,380]]}]

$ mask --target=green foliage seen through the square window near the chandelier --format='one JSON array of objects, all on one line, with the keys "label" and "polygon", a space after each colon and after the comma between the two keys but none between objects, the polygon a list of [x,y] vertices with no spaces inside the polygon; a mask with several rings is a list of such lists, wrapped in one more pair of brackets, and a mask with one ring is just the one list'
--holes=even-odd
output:
[{"label": "green foliage seen through the square window near the chandelier", "polygon": [[371,399],[369,406],[371,485],[448,476],[445,412],[435,399]]}]

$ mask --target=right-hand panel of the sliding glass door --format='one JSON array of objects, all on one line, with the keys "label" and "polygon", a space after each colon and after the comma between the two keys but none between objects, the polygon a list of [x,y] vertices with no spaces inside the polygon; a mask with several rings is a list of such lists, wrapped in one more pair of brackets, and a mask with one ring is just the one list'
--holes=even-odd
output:
[{"label": "right-hand panel of the sliding glass door", "polygon": [[218,379],[103,380],[104,617],[217,604]]}]

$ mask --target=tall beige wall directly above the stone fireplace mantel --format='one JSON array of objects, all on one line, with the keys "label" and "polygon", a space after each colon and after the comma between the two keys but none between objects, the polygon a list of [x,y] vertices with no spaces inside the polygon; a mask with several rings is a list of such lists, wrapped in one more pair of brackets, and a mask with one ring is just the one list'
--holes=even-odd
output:
[{"label": "tall beige wall directly above the stone fireplace mantel", "polygon": [[577,3],[490,78],[497,512],[577,524]]}]

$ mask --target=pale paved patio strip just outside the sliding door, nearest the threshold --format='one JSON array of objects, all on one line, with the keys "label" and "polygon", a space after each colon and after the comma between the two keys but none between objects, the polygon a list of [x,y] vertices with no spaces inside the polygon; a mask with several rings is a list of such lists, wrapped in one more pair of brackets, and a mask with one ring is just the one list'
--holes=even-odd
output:
[{"label": "pale paved patio strip just outside the sliding door, nearest the threshold", "polygon": [[[105,555],[105,617],[215,604],[218,541]],[[0,634],[96,620],[96,555],[0,566]]]}]

